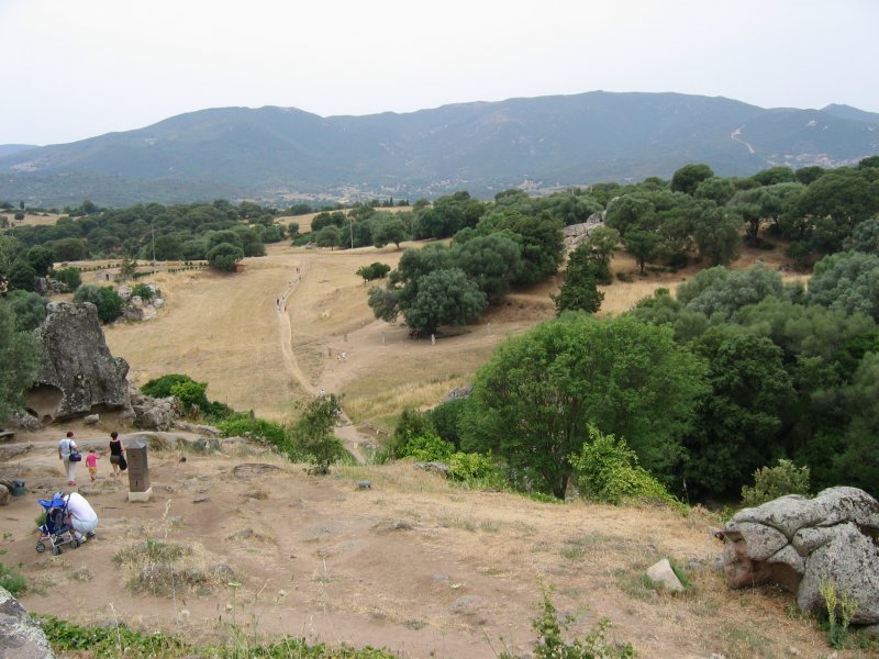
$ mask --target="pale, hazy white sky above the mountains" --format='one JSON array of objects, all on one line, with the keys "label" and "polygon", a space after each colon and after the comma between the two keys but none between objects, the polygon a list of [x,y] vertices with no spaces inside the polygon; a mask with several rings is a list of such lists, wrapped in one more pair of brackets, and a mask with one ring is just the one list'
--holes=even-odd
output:
[{"label": "pale, hazy white sky above the mountains", "polygon": [[0,0],[0,144],[608,91],[879,112],[878,0]]}]

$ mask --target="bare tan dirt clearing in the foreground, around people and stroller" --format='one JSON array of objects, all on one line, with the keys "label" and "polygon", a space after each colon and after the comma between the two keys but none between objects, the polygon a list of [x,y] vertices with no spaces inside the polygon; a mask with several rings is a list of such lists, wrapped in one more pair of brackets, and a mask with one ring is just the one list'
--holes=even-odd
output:
[{"label": "bare tan dirt clearing in the foreground, around people and stroller", "polygon": [[[101,424],[70,427],[80,445],[103,446],[112,422]],[[29,487],[0,512],[0,548],[33,585],[22,603],[35,613],[122,619],[192,640],[216,641],[235,625],[248,637],[287,634],[383,646],[400,657],[479,658],[531,648],[543,582],[557,589],[555,604],[575,616],[575,630],[609,616],[612,635],[642,657],[826,650],[812,623],[786,615],[790,595],[726,589],[714,568],[717,522],[706,513],[467,491],[407,463],[336,468],[319,478],[259,448],[212,456],[156,450],[155,499],[129,503],[104,458],[97,483],[85,467],[78,474],[78,490],[100,515],[97,537],[60,556],[37,554],[35,500],[65,488],[57,437],[55,429],[20,436],[32,450],[0,467]],[[371,489],[357,489],[363,479]],[[192,557],[171,563],[181,570],[224,571],[196,590],[176,583],[159,594],[135,593],[126,583],[140,572],[112,559],[146,539],[190,547]],[[644,585],[645,568],[663,557],[685,567],[690,592],[672,597]]]}]

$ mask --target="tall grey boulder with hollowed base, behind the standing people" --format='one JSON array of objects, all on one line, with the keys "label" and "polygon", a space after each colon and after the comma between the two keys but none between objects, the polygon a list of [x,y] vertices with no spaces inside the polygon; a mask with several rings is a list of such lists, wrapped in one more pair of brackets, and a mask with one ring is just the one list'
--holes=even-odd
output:
[{"label": "tall grey boulder with hollowed base, behind the standing people", "polygon": [[90,302],[49,302],[35,334],[43,350],[27,407],[42,420],[64,420],[130,406],[129,365],[107,347]]}]

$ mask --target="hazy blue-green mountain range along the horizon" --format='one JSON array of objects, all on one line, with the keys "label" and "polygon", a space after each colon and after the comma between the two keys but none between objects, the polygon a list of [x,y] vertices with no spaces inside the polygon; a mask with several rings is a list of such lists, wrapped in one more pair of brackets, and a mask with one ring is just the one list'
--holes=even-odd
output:
[{"label": "hazy blue-green mountain range along the horizon", "polygon": [[764,109],[726,98],[591,91],[319,116],[220,108],[42,147],[0,145],[0,199],[100,205],[252,199],[434,198],[670,178],[775,165],[837,167],[879,154],[879,114],[848,105]]}]

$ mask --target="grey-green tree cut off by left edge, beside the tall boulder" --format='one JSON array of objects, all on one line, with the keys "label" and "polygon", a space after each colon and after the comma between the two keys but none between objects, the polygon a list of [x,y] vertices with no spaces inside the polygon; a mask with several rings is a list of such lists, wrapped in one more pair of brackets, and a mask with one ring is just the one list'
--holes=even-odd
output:
[{"label": "grey-green tree cut off by left edge, beside the tall boulder", "polygon": [[15,312],[0,298],[0,423],[23,409],[24,393],[40,368],[40,348],[33,333],[15,325]]}]

